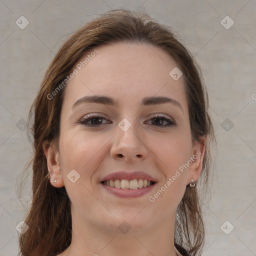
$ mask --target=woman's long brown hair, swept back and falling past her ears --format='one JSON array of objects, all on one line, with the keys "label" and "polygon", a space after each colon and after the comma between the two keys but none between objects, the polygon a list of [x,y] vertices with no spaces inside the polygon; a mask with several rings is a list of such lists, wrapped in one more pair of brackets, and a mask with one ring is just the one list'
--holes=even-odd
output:
[{"label": "woman's long brown hair, swept back and falling past her ears", "polygon": [[[53,187],[47,179],[47,162],[42,147],[45,141],[57,143],[59,136],[65,87],[54,96],[52,91],[56,91],[85,54],[100,45],[116,41],[156,45],[175,60],[184,75],[193,142],[207,135],[200,175],[200,181],[207,184],[210,167],[208,142],[214,139],[214,131],[207,110],[208,96],[198,65],[168,26],[159,24],[147,14],[123,9],[108,11],[90,20],[62,44],[30,108],[28,121],[33,135],[33,158],[28,166],[32,163],[32,201],[24,220],[29,228],[19,237],[20,253],[23,256],[54,256],[71,243],[70,199],[65,187]],[[186,187],[177,207],[175,225],[174,242],[193,256],[201,255],[204,243],[199,195],[197,188]]]}]

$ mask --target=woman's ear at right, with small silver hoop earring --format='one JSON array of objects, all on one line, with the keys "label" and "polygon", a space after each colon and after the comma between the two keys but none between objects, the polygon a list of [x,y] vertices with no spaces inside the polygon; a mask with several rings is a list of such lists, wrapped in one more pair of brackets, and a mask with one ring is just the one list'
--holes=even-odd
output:
[{"label": "woman's ear at right, with small silver hoop earring", "polygon": [[202,170],[202,160],[205,153],[205,141],[206,136],[201,136],[200,141],[196,141],[192,150],[191,150],[191,164],[188,169],[187,181],[186,184],[189,184],[191,179],[196,181]]}]

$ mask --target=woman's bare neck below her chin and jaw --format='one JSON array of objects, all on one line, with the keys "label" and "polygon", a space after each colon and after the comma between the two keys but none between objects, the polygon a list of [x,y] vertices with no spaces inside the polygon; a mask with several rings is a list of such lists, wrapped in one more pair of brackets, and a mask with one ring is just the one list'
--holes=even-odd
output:
[{"label": "woman's bare neck below her chin and jaw", "polygon": [[[109,230],[110,224],[96,226],[77,212],[72,212],[72,241],[61,256],[176,256],[174,249],[174,224],[176,212],[165,221],[150,227],[137,227],[122,233]],[[122,221],[115,220],[117,223]],[[117,224],[119,225],[119,224]],[[123,224],[125,227],[125,224]],[[128,224],[127,224],[128,225]],[[60,256],[59,255],[59,256]]]}]

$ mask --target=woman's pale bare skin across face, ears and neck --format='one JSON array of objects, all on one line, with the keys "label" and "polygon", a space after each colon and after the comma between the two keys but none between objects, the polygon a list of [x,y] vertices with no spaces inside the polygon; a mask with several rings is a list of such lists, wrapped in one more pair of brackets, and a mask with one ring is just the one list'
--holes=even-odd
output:
[{"label": "woman's pale bare skin across face, ears and neck", "polygon": [[[184,80],[170,77],[175,61],[162,49],[143,43],[118,42],[97,47],[98,53],[70,80],[60,115],[58,146],[44,145],[50,183],[65,186],[71,200],[72,241],[58,256],[140,255],[174,256],[176,208],[190,180],[196,181],[202,168],[205,146],[192,143]],[[74,102],[86,95],[102,95],[117,105]],[[144,97],[165,96],[165,102],[140,106]],[[97,113],[101,120],[77,120]],[[155,114],[170,119],[176,126]],[[123,131],[118,123],[126,118],[131,127]],[[101,124],[97,124],[101,123]],[[200,140],[204,143],[205,137]],[[189,157],[200,152],[179,177],[157,198],[156,193]],[[72,170],[80,178],[72,183]],[[120,198],[107,192],[99,178],[118,170],[139,170],[157,179],[153,191],[135,198]],[[56,178],[56,182],[53,182]],[[64,214],[64,212],[63,212]],[[122,233],[126,221],[131,229]]]}]

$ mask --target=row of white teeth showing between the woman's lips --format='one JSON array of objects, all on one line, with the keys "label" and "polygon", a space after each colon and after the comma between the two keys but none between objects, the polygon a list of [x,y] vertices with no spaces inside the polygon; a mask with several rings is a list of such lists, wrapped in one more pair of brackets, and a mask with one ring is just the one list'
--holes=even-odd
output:
[{"label": "row of white teeth showing between the woman's lips", "polygon": [[104,180],[103,184],[107,186],[112,186],[116,188],[122,188],[122,189],[137,189],[149,186],[152,182],[147,179],[110,179],[110,180]]}]

